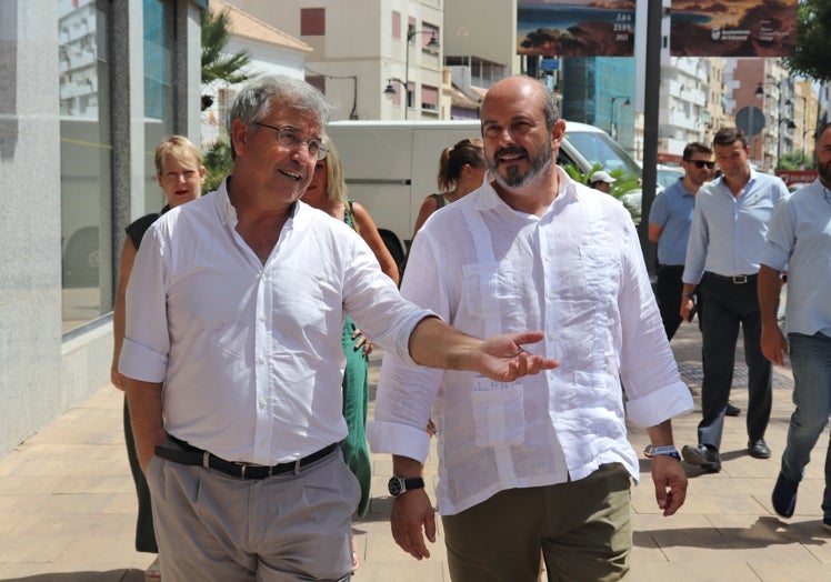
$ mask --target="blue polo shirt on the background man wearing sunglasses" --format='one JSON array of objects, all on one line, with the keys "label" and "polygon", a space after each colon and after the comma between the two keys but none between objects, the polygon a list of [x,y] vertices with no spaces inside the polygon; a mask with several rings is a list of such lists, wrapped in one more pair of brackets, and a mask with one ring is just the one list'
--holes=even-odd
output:
[{"label": "blue polo shirt on the background man wearing sunglasses", "polygon": [[658,239],[659,263],[683,267],[694,209],[695,194],[684,188],[682,178],[655,197],[649,222],[662,228]]}]

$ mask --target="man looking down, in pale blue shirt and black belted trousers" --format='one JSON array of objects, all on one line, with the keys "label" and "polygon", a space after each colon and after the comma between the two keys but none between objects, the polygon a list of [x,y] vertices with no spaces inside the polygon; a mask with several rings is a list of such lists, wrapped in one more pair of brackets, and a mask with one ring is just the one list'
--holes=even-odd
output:
[{"label": "man looking down, in pale blue shirt and black belted trousers", "polygon": [[771,212],[788,197],[784,182],[757,172],[748,163],[748,138],[738,128],[722,128],[713,139],[721,177],[701,188],[690,227],[683,272],[681,317],[692,309],[693,291],[704,302],[701,314],[704,380],[699,443],[681,454],[708,471],[721,470],[721,433],[733,381],[739,327],[748,363],[748,452],[769,459],[764,442],[771,409],[771,364],[762,354],[757,297],[759,261]]}]

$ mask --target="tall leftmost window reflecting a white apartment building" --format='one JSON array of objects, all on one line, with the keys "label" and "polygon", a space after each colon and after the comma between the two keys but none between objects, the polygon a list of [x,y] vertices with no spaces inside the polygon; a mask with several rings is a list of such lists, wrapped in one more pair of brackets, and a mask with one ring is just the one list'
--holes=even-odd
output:
[{"label": "tall leftmost window reflecting a white apartment building", "polygon": [[[112,140],[107,3],[63,4],[60,48],[62,330],[109,311],[101,282],[112,267],[100,264],[101,241],[109,240]],[[79,23],[84,26],[80,27]],[[79,82],[79,80],[81,80]]]}]

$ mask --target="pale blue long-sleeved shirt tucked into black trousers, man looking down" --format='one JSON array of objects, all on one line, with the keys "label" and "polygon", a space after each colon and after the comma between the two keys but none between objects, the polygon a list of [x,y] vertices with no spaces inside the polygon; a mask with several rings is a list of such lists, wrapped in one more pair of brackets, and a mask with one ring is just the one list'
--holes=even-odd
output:
[{"label": "pale blue long-sleeved shirt tucked into black trousers, man looking down", "polygon": [[702,187],[692,214],[683,282],[699,284],[704,271],[727,277],[758,273],[770,215],[787,197],[780,178],[752,168],[738,198],[723,177]]}]

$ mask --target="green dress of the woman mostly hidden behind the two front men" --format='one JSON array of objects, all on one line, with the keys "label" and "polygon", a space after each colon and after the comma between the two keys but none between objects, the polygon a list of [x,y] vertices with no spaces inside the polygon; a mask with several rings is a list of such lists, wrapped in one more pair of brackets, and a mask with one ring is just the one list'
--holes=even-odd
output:
[{"label": "green dress of the woman mostly hidden behind the two front men", "polygon": [[[352,218],[352,200],[347,204],[346,222],[356,229]],[[367,411],[369,409],[369,358],[363,355],[363,348],[354,348],[357,338],[352,333],[358,329],[352,318],[343,317],[343,353],[347,365],[343,370],[343,418],[347,420],[349,435],[341,443],[343,460],[354,473],[361,485],[361,500],[358,503],[358,515],[363,516],[369,509],[369,488],[372,480],[372,468],[367,444]]]}]

